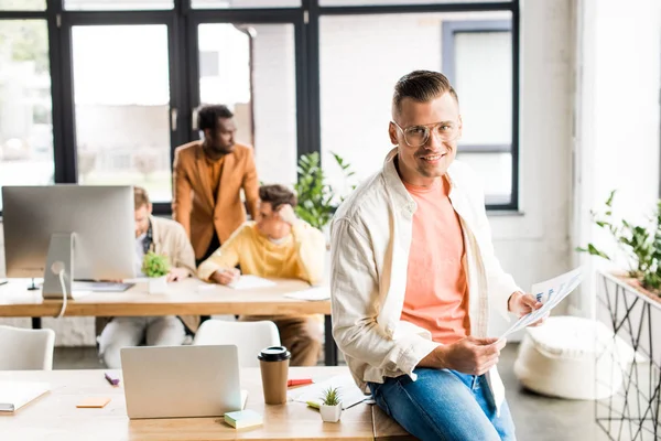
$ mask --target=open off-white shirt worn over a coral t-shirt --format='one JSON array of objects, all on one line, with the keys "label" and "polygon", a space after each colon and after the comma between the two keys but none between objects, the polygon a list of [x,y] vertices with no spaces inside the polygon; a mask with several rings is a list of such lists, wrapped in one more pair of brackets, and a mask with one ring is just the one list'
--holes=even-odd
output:
[{"label": "open off-white shirt worn over a coral t-shirt", "polygon": [[[330,227],[333,336],[362,390],[383,377],[407,374],[415,380],[413,369],[440,345],[430,331],[400,321],[416,204],[399,178],[395,157],[393,149],[383,170],[342,204]],[[494,255],[479,179],[458,161],[447,175],[466,244],[470,335],[486,337],[489,308],[509,320],[507,302],[519,288]],[[487,379],[500,408],[505,388],[496,367]]]}]

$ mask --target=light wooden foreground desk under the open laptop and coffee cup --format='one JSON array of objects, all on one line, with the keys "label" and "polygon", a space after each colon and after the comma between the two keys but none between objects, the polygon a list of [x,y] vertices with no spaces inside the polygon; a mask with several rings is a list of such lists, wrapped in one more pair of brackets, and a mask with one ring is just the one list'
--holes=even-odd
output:
[{"label": "light wooden foreground desk under the open laptop and coffee cup", "polygon": [[[348,374],[346,367],[292,367],[290,376],[327,378]],[[221,418],[130,420],[123,388],[111,387],[104,370],[0,372],[0,380],[50,381],[51,391],[14,415],[0,416],[3,440],[372,440],[371,406],[347,409],[339,423],[323,422],[317,410],[302,402],[267,406],[259,368],[241,370],[248,389],[246,407],[263,416],[261,427],[236,430]],[[78,409],[88,397],[109,397],[102,409]]]}]

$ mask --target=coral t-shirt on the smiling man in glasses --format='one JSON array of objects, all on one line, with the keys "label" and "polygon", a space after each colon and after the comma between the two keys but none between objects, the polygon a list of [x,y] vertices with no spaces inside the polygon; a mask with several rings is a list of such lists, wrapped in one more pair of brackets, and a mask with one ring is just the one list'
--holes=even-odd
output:
[{"label": "coral t-shirt on the smiling man in glasses", "polygon": [[449,344],[470,334],[464,235],[449,201],[447,180],[432,187],[404,183],[418,204],[401,320]]}]

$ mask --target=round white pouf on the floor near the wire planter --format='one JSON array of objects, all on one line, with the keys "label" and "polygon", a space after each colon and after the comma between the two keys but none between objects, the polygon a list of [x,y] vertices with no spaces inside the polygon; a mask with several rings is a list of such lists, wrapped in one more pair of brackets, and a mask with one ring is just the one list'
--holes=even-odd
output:
[{"label": "round white pouf on the floor near the wire planter", "polygon": [[[595,366],[597,354],[599,362]],[[538,394],[603,399],[620,389],[622,369],[633,361],[633,349],[620,337],[614,338],[600,322],[552,316],[542,326],[527,329],[514,374],[523,386]]]}]

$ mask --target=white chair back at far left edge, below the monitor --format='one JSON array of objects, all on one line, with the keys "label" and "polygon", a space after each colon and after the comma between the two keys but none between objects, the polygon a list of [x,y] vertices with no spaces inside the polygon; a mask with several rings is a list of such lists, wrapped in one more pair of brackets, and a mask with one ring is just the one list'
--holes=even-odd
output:
[{"label": "white chair back at far left edge, below the monitor", "polygon": [[53,330],[0,325],[0,370],[53,369]]}]

